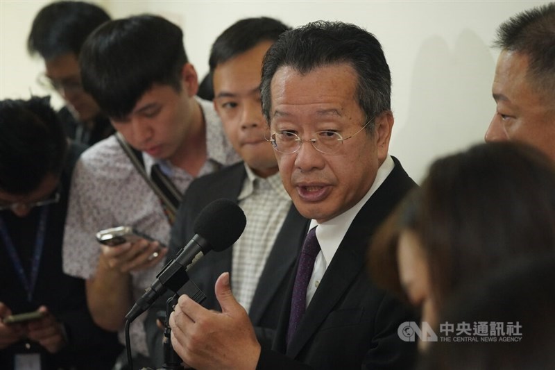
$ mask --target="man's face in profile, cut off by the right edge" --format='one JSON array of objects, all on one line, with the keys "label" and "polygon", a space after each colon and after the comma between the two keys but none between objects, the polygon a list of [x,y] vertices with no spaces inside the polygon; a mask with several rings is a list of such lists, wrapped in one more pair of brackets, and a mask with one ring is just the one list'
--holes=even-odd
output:
[{"label": "man's face in profile, cut off by the right edge", "polygon": [[555,3],[501,24],[495,46],[501,49],[492,86],[497,109],[486,142],[527,142],[555,160]]}]

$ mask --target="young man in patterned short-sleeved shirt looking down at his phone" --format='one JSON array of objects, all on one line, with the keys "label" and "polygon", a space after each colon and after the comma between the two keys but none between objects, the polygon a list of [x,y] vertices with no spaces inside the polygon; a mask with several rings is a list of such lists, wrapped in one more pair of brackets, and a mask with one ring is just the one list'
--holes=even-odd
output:
[{"label": "young man in patterned short-sleeved shirt looking down at his phone", "polygon": [[[64,269],[87,279],[92,317],[102,328],[120,330],[123,342],[125,314],[163,267],[181,194],[194,178],[239,157],[212,102],[195,96],[197,75],[182,31],[167,19],[139,15],[103,24],[83,45],[80,69],[85,90],[117,134],[76,165]],[[155,242],[99,246],[94,235],[114,226],[130,226]],[[151,366],[143,320],[131,326],[137,367]]]}]

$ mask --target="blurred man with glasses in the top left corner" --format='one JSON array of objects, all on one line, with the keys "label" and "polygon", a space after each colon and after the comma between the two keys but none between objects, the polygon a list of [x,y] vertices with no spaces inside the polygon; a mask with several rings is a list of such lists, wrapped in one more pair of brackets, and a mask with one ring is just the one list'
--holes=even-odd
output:
[{"label": "blurred man with glasses in the top left corner", "polygon": [[39,82],[56,90],[67,106],[58,115],[71,139],[92,145],[112,135],[110,120],[81,85],[78,58],[87,36],[110,16],[99,6],[82,1],[56,1],[38,12],[28,35],[31,55],[44,60]]}]

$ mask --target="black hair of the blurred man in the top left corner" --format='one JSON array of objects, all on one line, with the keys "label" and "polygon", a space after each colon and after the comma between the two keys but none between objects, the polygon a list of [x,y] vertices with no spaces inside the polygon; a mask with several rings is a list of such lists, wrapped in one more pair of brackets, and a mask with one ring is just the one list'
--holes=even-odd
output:
[{"label": "black hair of the blurred man in the top left corner", "polygon": [[79,55],[83,42],[110,16],[99,6],[82,1],[57,1],[42,8],[27,38],[31,55],[49,60],[65,53]]}]

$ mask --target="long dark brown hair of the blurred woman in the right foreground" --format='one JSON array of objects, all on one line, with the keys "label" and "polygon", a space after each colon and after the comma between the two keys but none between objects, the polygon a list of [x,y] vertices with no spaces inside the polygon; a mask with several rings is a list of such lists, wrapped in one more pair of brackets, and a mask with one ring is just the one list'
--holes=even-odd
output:
[{"label": "long dark brown hair of the blurred woman in the right foreground", "polygon": [[400,234],[416,234],[436,308],[464,283],[507,260],[555,248],[555,164],[521,142],[492,142],[438,158],[375,233],[369,267],[375,283],[404,296]]}]

